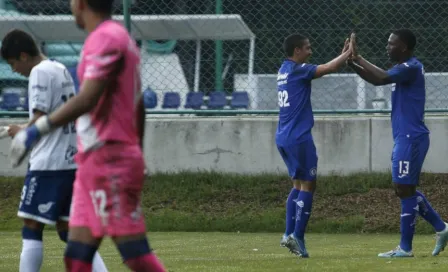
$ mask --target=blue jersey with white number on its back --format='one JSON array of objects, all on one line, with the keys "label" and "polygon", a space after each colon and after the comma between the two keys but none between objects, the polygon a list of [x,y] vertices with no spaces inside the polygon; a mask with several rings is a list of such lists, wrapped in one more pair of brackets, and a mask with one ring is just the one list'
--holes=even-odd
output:
[{"label": "blue jersey with white number on its back", "polygon": [[314,117],[311,107],[311,80],[317,65],[285,60],[277,75],[280,108],[276,133],[279,146],[298,144],[311,139]]}]

